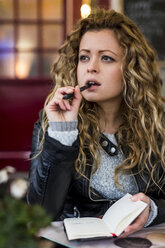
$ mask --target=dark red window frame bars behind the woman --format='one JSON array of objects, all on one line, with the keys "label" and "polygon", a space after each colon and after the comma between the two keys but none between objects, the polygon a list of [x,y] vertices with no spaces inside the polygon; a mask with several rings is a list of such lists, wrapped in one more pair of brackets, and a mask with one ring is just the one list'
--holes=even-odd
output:
[{"label": "dark red window frame bars behind the woman", "polygon": [[[12,19],[2,19],[0,18],[0,24],[4,25],[13,25],[13,40],[14,40],[14,46],[13,48],[0,48],[0,54],[13,54],[14,55],[14,75],[13,77],[1,77],[0,75],[0,81],[17,81],[20,80],[20,78],[16,75],[16,60],[17,55],[21,52],[23,53],[35,53],[37,55],[37,75],[35,77],[27,77],[25,80],[43,80],[44,82],[47,80],[50,80],[50,76],[45,76],[42,74],[42,68],[43,68],[43,60],[42,55],[44,53],[57,53],[58,47],[54,48],[43,48],[42,47],[42,32],[43,32],[43,25],[61,25],[62,26],[62,42],[64,41],[66,37],[66,1],[67,0],[61,0],[63,5],[63,18],[62,19],[51,19],[46,20],[42,19],[42,0],[36,0],[37,3],[37,18],[32,19],[19,19],[19,1],[21,0],[13,0],[13,18]],[[37,26],[37,47],[36,48],[28,48],[28,49],[19,49],[16,47],[17,41],[18,41],[18,28],[19,25],[33,25],[35,24]]]}]

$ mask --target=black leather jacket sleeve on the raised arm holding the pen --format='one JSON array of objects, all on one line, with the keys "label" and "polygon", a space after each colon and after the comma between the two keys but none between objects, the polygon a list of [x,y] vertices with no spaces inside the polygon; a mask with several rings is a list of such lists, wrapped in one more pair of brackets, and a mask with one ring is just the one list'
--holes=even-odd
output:
[{"label": "black leather jacket sleeve on the raised arm holding the pen", "polygon": [[79,141],[77,139],[72,146],[65,146],[46,133],[42,152],[39,153],[40,127],[40,121],[36,122],[33,130],[27,201],[29,204],[42,205],[53,220],[56,220],[63,210],[71,184]]}]

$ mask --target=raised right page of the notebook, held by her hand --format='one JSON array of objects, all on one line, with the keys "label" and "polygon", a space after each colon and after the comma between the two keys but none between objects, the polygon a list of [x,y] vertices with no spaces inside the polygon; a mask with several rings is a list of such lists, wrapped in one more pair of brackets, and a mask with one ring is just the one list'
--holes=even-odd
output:
[{"label": "raised right page of the notebook, held by her hand", "polygon": [[117,236],[147,207],[146,203],[133,202],[130,197],[131,195],[127,193],[115,202],[103,216],[104,222]]}]

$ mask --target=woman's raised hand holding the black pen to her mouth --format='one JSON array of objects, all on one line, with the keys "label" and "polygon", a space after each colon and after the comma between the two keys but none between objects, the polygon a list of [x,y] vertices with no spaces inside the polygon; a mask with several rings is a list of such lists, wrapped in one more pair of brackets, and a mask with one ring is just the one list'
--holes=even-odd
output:
[{"label": "woman's raised hand holding the black pen to her mouth", "polygon": [[[72,104],[69,100],[64,100],[63,96],[67,93],[74,92]],[[45,107],[45,111],[49,121],[75,121],[77,120],[78,110],[82,96],[79,86],[62,87],[57,89],[54,97]]]}]

